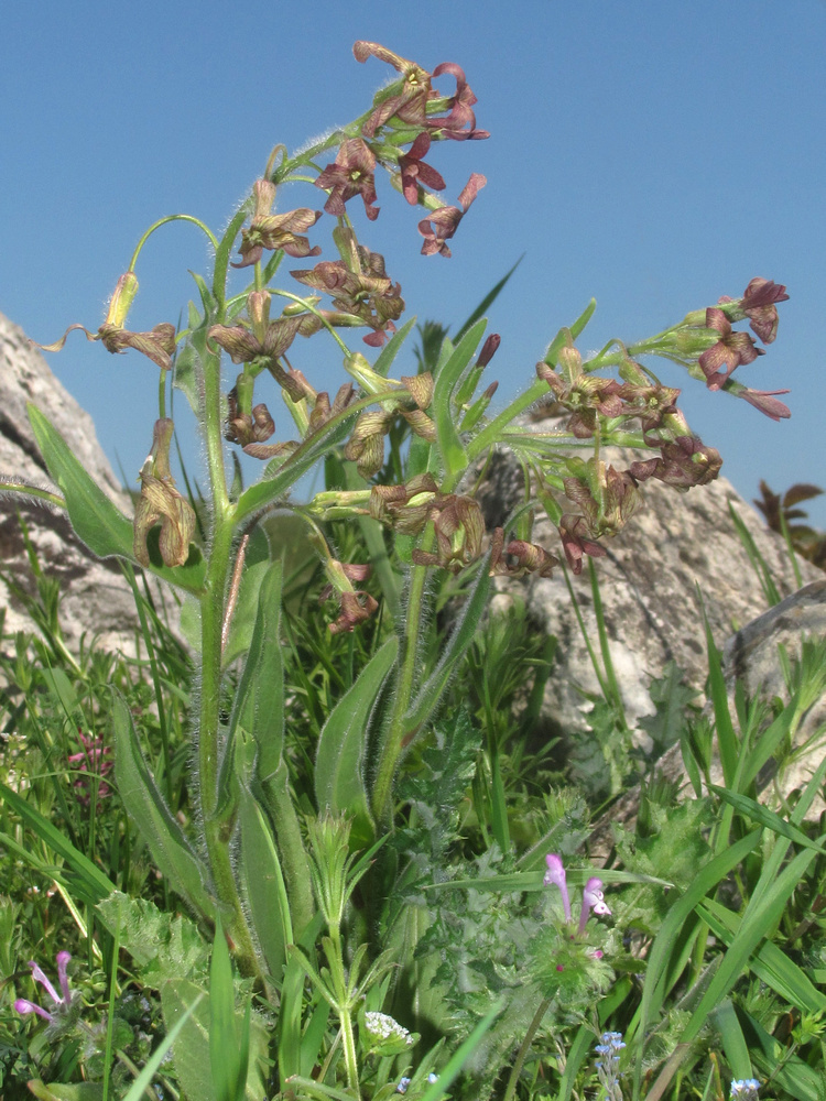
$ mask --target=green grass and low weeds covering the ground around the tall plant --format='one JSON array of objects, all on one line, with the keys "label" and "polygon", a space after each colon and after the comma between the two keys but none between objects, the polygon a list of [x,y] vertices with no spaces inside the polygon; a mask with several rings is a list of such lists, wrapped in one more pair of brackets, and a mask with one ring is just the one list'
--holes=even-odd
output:
[{"label": "green grass and low weeds covering the ground around the tall plant", "polygon": [[[350,536],[346,528],[334,536],[346,560]],[[616,753],[616,738],[629,733],[633,742],[639,732],[615,723],[608,737],[597,718],[590,746],[580,745],[572,761],[559,743],[536,738],[554,641],[541,637],[515,603],[477,635],[431,735],[405,763],[395,830],[365,861],[346,839],[313,826],[315,751],[326,717],[388,626],[377,619],[332,636],[318,601],[324,579],[297,574],[282,647],[286,760],[316,852],[327,846],[324,859],[314,858],[319,898],[344,843],[337,874],[346,890],[334,923],[341,955],[316,925],[301,948],[289,949],[272,990],[233,984],[228,960],[219,972],[214,962],[210,986],[213,930],[193,919],[154,868],[110,768],[117,691],[156,785],[198,846],[187,787],[192,668],[146,591],[128,581],[141,622],[134,658],[94,646],[70,655],[58,597],[45,580],[32,598],[37,633],[2,640],[0,781],[11,793],[0,802],[3,1098],[137,1101],[142,1091],[195,1101],[193,1082],[203,1095],[222,1098],[227,1090],[240,1097],[244,1084],[250,1095],[252,1081],[268,1098],[344,1098],[355,1092],[348,1059],[358,1062],[360,1094],[380,1101],[402,1075],[411,1077],[410,1095],[428,1101],[448,1078],[458,1098],[595,1097],[594,1047],[605,1032],[623,1036],[626,1098],[718,1098],[730,1079],[750,1077],[760,1080],[761,1098],[824,1095],[826,847],[805,811],[823,789],[826,763],[804,789],[757,800],[758,778],[769,765],[782,773],[792,763],[794,732],[824,695],[823,644],[806,643],[800,659],[786,656],[785,698],[750,700],[739,691],[732,706],[709,637],[710,710],[698,711],[680,671],[664,669],[646,720],[653,756]],[[450,599],[448,588],[437,603]],[[595,640],[594,650],[605,659],[604,643]],[[231,677],[226,693],[229,710]],[[608,677],[604,709],[611,693]],[[700,783],[710,775],[713,741],[721,787]],[[682,791],[656,773],[656,754],[675,742],[692,781]],[[604,762],[612,786],[586,795],[572,775],[588,754]],[[542,885],[544,857],[562,857],[576,917],[595,873],[582,855],[594,810],[640,781],[635,825],[616,825],[599,871],[611,916],[591,919],[586,935],[572,939],[562,896]],[[109,889],[117,894],[104,903]],[[48,1007],[28,961],[54,981],[61,951],[72,955],[70,1005],[58,1006],[51,1023],[15,1012],[20,998]],[[338,979],[337,959],[346,961]],[[336,982],[343,990],[356,983],[351,1033],[332,1012],[344,996],[328,993]],[[198,990],[209,991],[208,1012],[194,1004]],[[185,1020],[184,1010],[172,1009],[173,991],[181,1005],[194,992]],[[236,1037],[230,1047],[246,1045],[254,1079],[253,1070],[244,1080],[219,1075],[220,1060],[209,1071],[204,1037],[216,1035],[218,1004],[221,1035]],[[392,1015],[412,1043],[370,1040],[368,1010]],[[138,1081],[150,1065],[154,1077],[144,1071]],[[287,1065],[290,1081],[279,1077]],[[434,1073],[443,1076],[441,1087],[428,1081]]]}]

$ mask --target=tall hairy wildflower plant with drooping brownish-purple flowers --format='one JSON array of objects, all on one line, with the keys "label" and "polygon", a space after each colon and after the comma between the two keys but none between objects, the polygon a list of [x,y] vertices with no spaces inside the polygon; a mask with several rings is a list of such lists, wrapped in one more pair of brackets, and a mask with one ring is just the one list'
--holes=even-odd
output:
[{"label": "tall hairy wildflower plant with drooping brownish-purple flowers", "polygon": [[[141,723],[119,694],[113,770],[105,756],[108,740],[84,741],[84,760],[72,761],[79,772],[95,765],[106,785],[117,787],[154,866],[192,919],[173,931],[169,915],[130,904],[96,864],[61,849],[75,861],[89,904],[98,904],[96,920],[116,938],[123,933],[120,942],[160,989],[167,1027],[182,1029],[174,1058],[191,1097],[211,1095],[204,1076],[210,1056],[220,1070],[221,1039],[243,1053],[236,1077],[229,1076],[233,1091],[243,1091],[241,1069],[249,1068],[251,1095],[270,1087],[295,1097],[339,1095],[346,1088],[358,1098],[367,1082],[370,1095],[385,1098],[404,1092],[399,1083],[409,1080],[411,1093],[421,1088],[428,1099],[436,1095],[427,1076],[443,1069],[434,1066],[438,1042],[411,1075],[407,1049],[417,1035],[404,1012],[384,1012],[384,1002],[403,989],[398,977],[393,984],[393,970],[407,974],[419,967],[419,938],[396,898],[415,864],[398,842],[400,832],[415,833],[402,793],[422,768],[428,740],[443,734],[436,718],[474,642],[491,577],[546,577],[563,559],[578,574],[585,558],[606,554],[604,542],[642,506],[645,481],[684,492],[717,477],[719,453],[691,430],[677,406],[680,391],[646,366],[651,357],[682,366],[709,392],[742,397],[773,419],[790,415],[775,394],[732,377],[763,351],[754,337],[735,329],[738,323],[748,319],[765,345],[776,335],[776,306],[787,295],[764,279],[650,339],[611,340],[585,357],[577,340],[591,302],[552,337],[524,389],[498,411],[496,383],[486,375],[500,340],[486,337],[483,318],[474,316],[455,340],[443,339],[432,363],[416,363],[405,344],[414,319],[403,320],[402,284],[389,274],[396,261],[371,250],[370,226],[395,190],[417,208],[421,252],[449,258],[471,206],[483,201],[486,179],[471,172],[455,205],[445,203],[438,157],[445,149],[466,152],[464,142],[489,135],[477,127],[476,97],[458,65],[428,70],[371,42],[356,43],[354,52],[357,61],[383,62],[396,74],[358,118],[297,153],[276,145],[221,233],[189,215],[160,219],[140,238],[104,324],[96,331],[72,326],[111,353],[137,351],[152,364],[143,370],[157,390],[157,418],[145,427],[149,454],[132,516],[94,483],[43,413],[29,410],[77,536],[96,555],[118,557],[169,584],[197,611],[192,820],[178,815],[153,775]],[[387,198],[382,174],[391,185]],[[304,188],[307,205],[283,208],[296,187]],[[211,273],[194,275],[197,301],[180,329],[161,320],[149,331],[131,331],[140,255],[173,220],[203,232],[214,254]],[[176,314],[171,306],[170,316]],[[58,350],[65,339],[47,348]],[[320,341],[341,356],[333,396],[315,384]],[[198,421],[205,502],[185,493],[173,473],[170,385]],[[523,414],[537,403],[553,403],[551,427],[525,422]],[[615,444],[634,449],[637,458],[613,466],[604,449]],[[503,447],[530,477],[524,501],[491,532],[476,479],[486,458]],[[233,449],[262,464],[253,484],[235,477]],[[298,503],[290,494],[314,467],[324,467],[327,483]],[[25,491],[43,495],[36,487]],[[54,503],[54,494],[48,500]],[[537,505],[558,530],[554,547],[533,541]],[[295,699],[284,676],[287,579],[272,538],[286,513],[304,531],[302,557],[320,564],[329,639],[349,645],[359,631],[369,640],[358,667],[355,644],[349,651],[349,679],[327,695],[311,745],[293,737],[289,721]],[[358,533],[358,553],[341,555],[332,534],[341,526]],[[432,631],[434,577],[455,582],[453,591],[461,595],[450,631],[438,636]],[[450,729],[459,738],[460,720]],[[497,783],[493,775],[494,793]],[[106,785],[100,782],[98,797]],[[13,802],[13,793],[7,798]],[[415,815],[421,811],[416,804]],[[494,832],[500,857],[509,859],[501,815]],[[548,1004],[593,1002],[612,977],[605,951],[610,937],[595,920],[610,915],[600,880],[588,879],[576,919],[558,855],[547,858],[545,886],[558,890],[562,918],[548,914],[531,942],[530,996],[539,990],[542,1004],[518,1053],[508,1098]],[[214,944],[210,983],[203,952],[193,947],[198,928],[209,930]],[[192,950],[148,955],[141,937],[151,929],[159,940],[163,930],[169,944]],[[235,972],[224,960],[227,950]],[[61,994],[33,966],[52,1005],[22,1000],[28,1009],[18,1012],[51,1026],[68,1010],[66,962],[61,953]],[[252,1011],[251,992],[258,1000]],[[491,1027],[491,1014],[480,1027]],[[481,1033],[470,1039],[479,1044]],[[268,1059],[269,1084],[262,1070]],[[458,1073],[458,1064],[448,1067],[439,1089]]]}]

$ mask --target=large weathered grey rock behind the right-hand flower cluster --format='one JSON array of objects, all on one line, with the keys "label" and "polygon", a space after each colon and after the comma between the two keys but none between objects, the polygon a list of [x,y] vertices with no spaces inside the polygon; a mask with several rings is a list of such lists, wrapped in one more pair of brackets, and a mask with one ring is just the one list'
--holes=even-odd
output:
[{"label": "large weathered grey rock behind the right-hand flower cluster", "polygon": [[[604,456],[611,461],[610,453]],[[627,456],[626,456],[627,459]],[[628,461],[613,462],[626,468]],[[508,453],[493,457],[479,500],[489,527],[504,524],[522,499],[521,468]],[[646,481],[645,508],[613,539],[602,539],[607,557],[595,559],[610,643],[611,661],[629,724],[652,711],[649,685],[674,661],[688,682],[705,682],[706,643],[698,592],[718,646],[756,620],[769,606],[729,510],[733,508],[768,564],[781,596],[797,588],[785,543],[769,531],[725,478],[678,493]],[[556,528],[537,512],[534,542],[562,558]],[[804,582],[823,571],[800,559]],[[588,636],[599,654],[597,620],[587,566],[570,575]],[[498,578],[494,602],[521,595],[533,621],[558,640],[555,665],[545,690],[543,715],[564,739],[587,729],[590,704],[578,688],[599,693],[563,570],[551,578]]]}]

